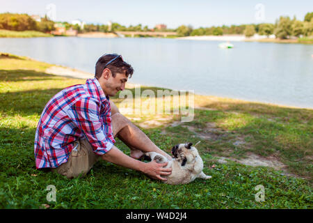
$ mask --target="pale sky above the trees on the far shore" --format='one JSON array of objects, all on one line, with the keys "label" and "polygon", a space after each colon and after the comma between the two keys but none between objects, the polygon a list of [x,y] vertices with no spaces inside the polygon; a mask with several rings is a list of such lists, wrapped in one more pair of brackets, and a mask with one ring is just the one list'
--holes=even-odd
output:
[{"label": "pale sky above the trees on the far shore", "polygon": [[51,3],[56,6],[56,21],[79,19],[94,24],[112,21],[125,26],[142,24],[149,28],[166,24],[170,29],[182,24],[196,29],[223,24],[275,23],[281,15],[303,20],[306,13],[313,11],[312,0],[0,0],[0,13],[44,16]]}]

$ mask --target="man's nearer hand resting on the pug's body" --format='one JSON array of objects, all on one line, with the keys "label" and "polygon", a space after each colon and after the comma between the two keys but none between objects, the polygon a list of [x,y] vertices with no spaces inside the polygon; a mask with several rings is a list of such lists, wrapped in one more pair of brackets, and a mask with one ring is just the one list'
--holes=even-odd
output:
[{"label": "man's nearer hand resting on the pug's body", "polygon": [[172,174],[172,168],[164,168],[168,162],[157,163],[155,160],[152,162],[145,163],[145,167],[143,168],[143,173],[147,174],[151,178],[159,179],[159,180],[167,180],[166,178],[162,178],[161,175],[170,175]]}]

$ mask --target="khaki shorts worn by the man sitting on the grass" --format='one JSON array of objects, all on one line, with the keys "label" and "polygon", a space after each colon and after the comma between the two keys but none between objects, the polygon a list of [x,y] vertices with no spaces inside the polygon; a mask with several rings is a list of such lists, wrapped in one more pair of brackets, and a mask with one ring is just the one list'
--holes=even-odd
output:
[{"label": "khaki shorts worn by the man sitting on the grass", "polygon": [[92,146],[86,139],[79,139],[79,141],[74,142],[74,148],[67,162],[56,169],[52,169],[52,171],[56,171],[67,178],[75,178],[80,174],[85,176],[99,157],[93,152]]}]

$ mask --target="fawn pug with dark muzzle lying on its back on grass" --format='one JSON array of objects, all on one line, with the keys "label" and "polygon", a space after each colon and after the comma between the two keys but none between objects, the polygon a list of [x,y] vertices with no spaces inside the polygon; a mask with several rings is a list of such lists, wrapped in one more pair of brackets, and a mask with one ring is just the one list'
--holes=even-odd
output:
[{"label": "fawn pug with dark muzzle lying on its back on grass", "polygon": [[[195,144],[198,145],[200,141]],[[156,153],[145,153],[151,160],[155,160],[158,163],[168,162],[166,168],[172,168],[172,174],[168,176],[162,176],[167,178],[165,183],[170,185],[191,183],[195,178],[202,178],[207,180],[211,176],[207,176],[203,173],[203,161],[198,153],[197,148],[192,146],[193,144],[178,144],[172,147],[172,160],[168,160],[165,156]]]}]

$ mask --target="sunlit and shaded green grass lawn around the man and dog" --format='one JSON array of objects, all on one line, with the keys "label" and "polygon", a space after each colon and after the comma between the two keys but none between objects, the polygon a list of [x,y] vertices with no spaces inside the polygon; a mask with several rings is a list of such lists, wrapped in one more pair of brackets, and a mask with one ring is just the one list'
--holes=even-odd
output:
[{"label": "sunlit and shaded green grass lawn around the man and dog", "polygon": [[[195,95],[199,109],[189,123],[180,123],[178,115],[129,116],[168,153],[175,144],[201,141],[204,173],[212,178],[187,185],[166,185],[104,161],[73,180],[35,169],[33,140],[42,109],[61,89],[85,82],[49,75],[50,66],[0,56],[0,208],[312,208],[312,109]],[[161,125],[141,127],[149,121]],[[129,155],[120,140],[116,146]],[[283,167],[233,161],[251,154]],[[56,202],[47,201],[47,185],[55,185]],[[264,186],[265,201],[255,201],[257,185]]]}]

